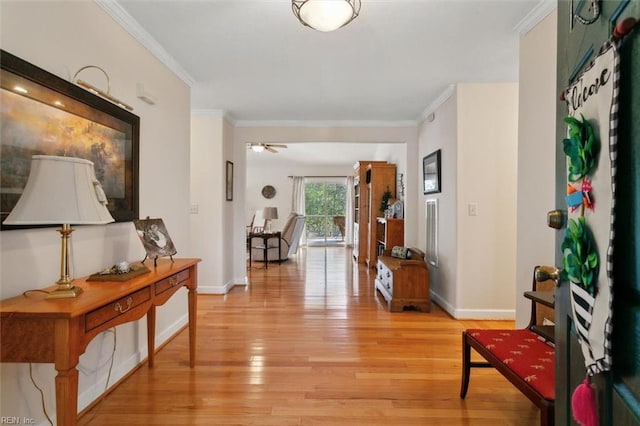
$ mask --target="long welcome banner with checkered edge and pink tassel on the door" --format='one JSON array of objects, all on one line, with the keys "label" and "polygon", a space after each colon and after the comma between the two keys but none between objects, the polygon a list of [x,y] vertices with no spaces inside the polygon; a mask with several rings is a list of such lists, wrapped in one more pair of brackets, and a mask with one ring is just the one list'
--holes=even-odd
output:
[{"label": "long welcome banner with checkered edge and pink tassel on the door", "polygon": [[[609,371],[612,361],[612,255],[620,77],[617,47],[614,39],[609,40],[564,92],[569,110],[563,148],[567,156],[570,211],[561,245],[562,274],[569,280],[571,310],[587,370],[587,378],[572,398],[574,418],[583,425],[597,424],[595,393],[589,379]],[[605,146],[608,150],[600,149]],[[585,410],[595,412],[596,418],[584,417]]]}]

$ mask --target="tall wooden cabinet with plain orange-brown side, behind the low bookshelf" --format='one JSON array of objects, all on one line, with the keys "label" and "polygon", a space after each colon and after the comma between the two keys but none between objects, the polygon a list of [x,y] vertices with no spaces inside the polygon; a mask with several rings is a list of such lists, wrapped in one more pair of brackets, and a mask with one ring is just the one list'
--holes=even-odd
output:
[{"label": "tall wooden cabinet with plain orange-brown side, behind the low bookshelf", "polygon": [[[373,268],[378,260],[378,240],[376,238],[378,217],[384,215],[384,210],[380,210],[382,195],[388,190],[391,192],[391,198],[396,197],[396,165],[391,163],[371,163],[367,166],[365,179],[367,184],[367,208],[365,212],[367,254],[365,262],[368,267]],[[360,226],[362,227],[363,223],[360,223]]]}]

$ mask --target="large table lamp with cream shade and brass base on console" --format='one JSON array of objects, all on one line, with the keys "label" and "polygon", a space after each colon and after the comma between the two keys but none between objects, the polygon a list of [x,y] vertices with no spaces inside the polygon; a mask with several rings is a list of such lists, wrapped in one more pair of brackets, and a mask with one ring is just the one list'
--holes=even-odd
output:
[{"label": "large table lamp with cream shade and brass base on console", "polygon": [[58,288],[47,299],[77,297],[81,287],[70,276],[71,225],[113,222],[107,197],[96,179],[93,163],[74,157],[34,155],[22,196],[3,222],[5,225],[61,225]]}]

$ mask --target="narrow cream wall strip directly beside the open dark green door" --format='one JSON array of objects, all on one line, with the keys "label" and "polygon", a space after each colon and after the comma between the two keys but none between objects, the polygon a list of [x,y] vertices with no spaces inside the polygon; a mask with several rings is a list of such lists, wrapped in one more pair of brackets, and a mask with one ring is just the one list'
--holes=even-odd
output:
[{"label": "narrow cream wall strip directly beside the open dark green door", "polygon": [[536,265],[554,264],[555,232],[546,213],[555,205],[557,11],[520,39],[516,325],[528,324]]}]

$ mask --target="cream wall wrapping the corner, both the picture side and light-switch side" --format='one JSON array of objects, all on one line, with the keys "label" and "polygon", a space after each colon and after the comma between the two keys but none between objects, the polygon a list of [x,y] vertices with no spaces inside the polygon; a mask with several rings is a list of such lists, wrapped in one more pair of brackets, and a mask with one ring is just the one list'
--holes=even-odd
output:
[{"label": "cream wall wrapping the corner, both the picture side and light-switch side", "polygon": [[[513,318],[517,165],[516,83],[459,84],[420,125],[422,158],[442,150],[439,194],[419,195],[420,247],[425,201],[438,199],[434,301],[455,318]],[[417,191],[421,194],[421,189]],[[477,216],[468,205],[477,205]]]}]

